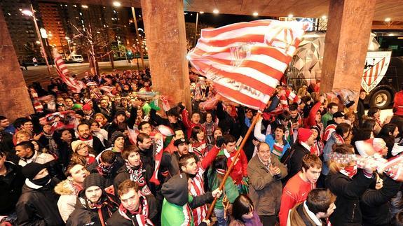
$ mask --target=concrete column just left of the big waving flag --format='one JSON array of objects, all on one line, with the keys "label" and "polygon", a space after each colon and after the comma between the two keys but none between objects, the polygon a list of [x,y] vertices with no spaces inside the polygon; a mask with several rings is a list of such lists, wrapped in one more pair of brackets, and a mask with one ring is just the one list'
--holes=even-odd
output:
[{"label": "concrete column just left of the big waving flag", "polygon": [[153,90],[191,110],[182,0],[142,0]]}]

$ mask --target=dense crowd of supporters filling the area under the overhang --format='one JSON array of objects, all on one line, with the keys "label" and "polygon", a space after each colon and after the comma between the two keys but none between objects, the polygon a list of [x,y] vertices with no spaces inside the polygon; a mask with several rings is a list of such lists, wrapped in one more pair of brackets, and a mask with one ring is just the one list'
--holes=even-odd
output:
[{"label": "dense crowd of supporters filling the area under the overhang", "polygon": [[36,113],[0,116],[1,225],[403,225],[399,169],[380,167],[403,152],[403,90],[382,121],[365,92],[355,111],[282,84],[257,113],[194,73],[191,109],[148,69],[82,80],[34,83]]}]

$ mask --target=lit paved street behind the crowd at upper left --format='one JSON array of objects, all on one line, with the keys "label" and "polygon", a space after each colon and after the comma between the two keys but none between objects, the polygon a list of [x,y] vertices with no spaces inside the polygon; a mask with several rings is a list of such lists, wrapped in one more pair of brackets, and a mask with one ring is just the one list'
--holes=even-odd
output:
[{"label": "lit paved street behind the crowd at upper left", "polygon": [[[134,61],[134,64],[128,63],[126,60],[115,61],[115,69],[118,71],[123,71],[126,69],[137,70],[137,61]],[[144,59],[144,64],[146,66],[149,65],[149,60]],[[74,64],[66,64],[69,69],[71,75],[76,74],[78,78],[82,78],[86,71],[90,71],[88,63],[74,63]],[[100,70],[101,72],[111,72],[113,71],[111,68],[111,62],[100,62]],[[141,61],[139,59],[139,66],[141,69]],[[52,72],[53,77],[57,77],[56,69],[50,66],[50,71]],[[49,83],[48,69],[46,69],[46,65],[39,66],[28,66],[28,71],[22,71],[22,74],[25,78],[25,83],[27,85],[32,84],[37,81],[42,85],[46,85]]]}]

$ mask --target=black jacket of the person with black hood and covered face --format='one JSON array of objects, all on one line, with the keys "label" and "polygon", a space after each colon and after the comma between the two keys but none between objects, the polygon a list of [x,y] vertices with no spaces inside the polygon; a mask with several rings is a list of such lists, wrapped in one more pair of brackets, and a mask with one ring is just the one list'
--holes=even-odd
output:
[{"label": "black jacket of the person with black hood and covered face", "polygon": [[51,181],[38,189],[31,188],[25,183],[22,195],[15,206],[17,225],[64,225],[57,209],[59,195],[53,190],[57,182]]}]

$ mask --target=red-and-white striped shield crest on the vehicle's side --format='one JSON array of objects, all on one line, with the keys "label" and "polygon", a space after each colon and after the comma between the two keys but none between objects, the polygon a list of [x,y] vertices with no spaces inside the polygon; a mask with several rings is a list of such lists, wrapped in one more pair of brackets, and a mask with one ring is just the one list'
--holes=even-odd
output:
[{"label": "red-and-white striped shield crest on the vehicle's side", "polygon": [[364,75],[361,81],[362,89],[365,92],[371,92],[381,82],[386,71],[388,71],[391,55],[392,52],[367,52]]}]

